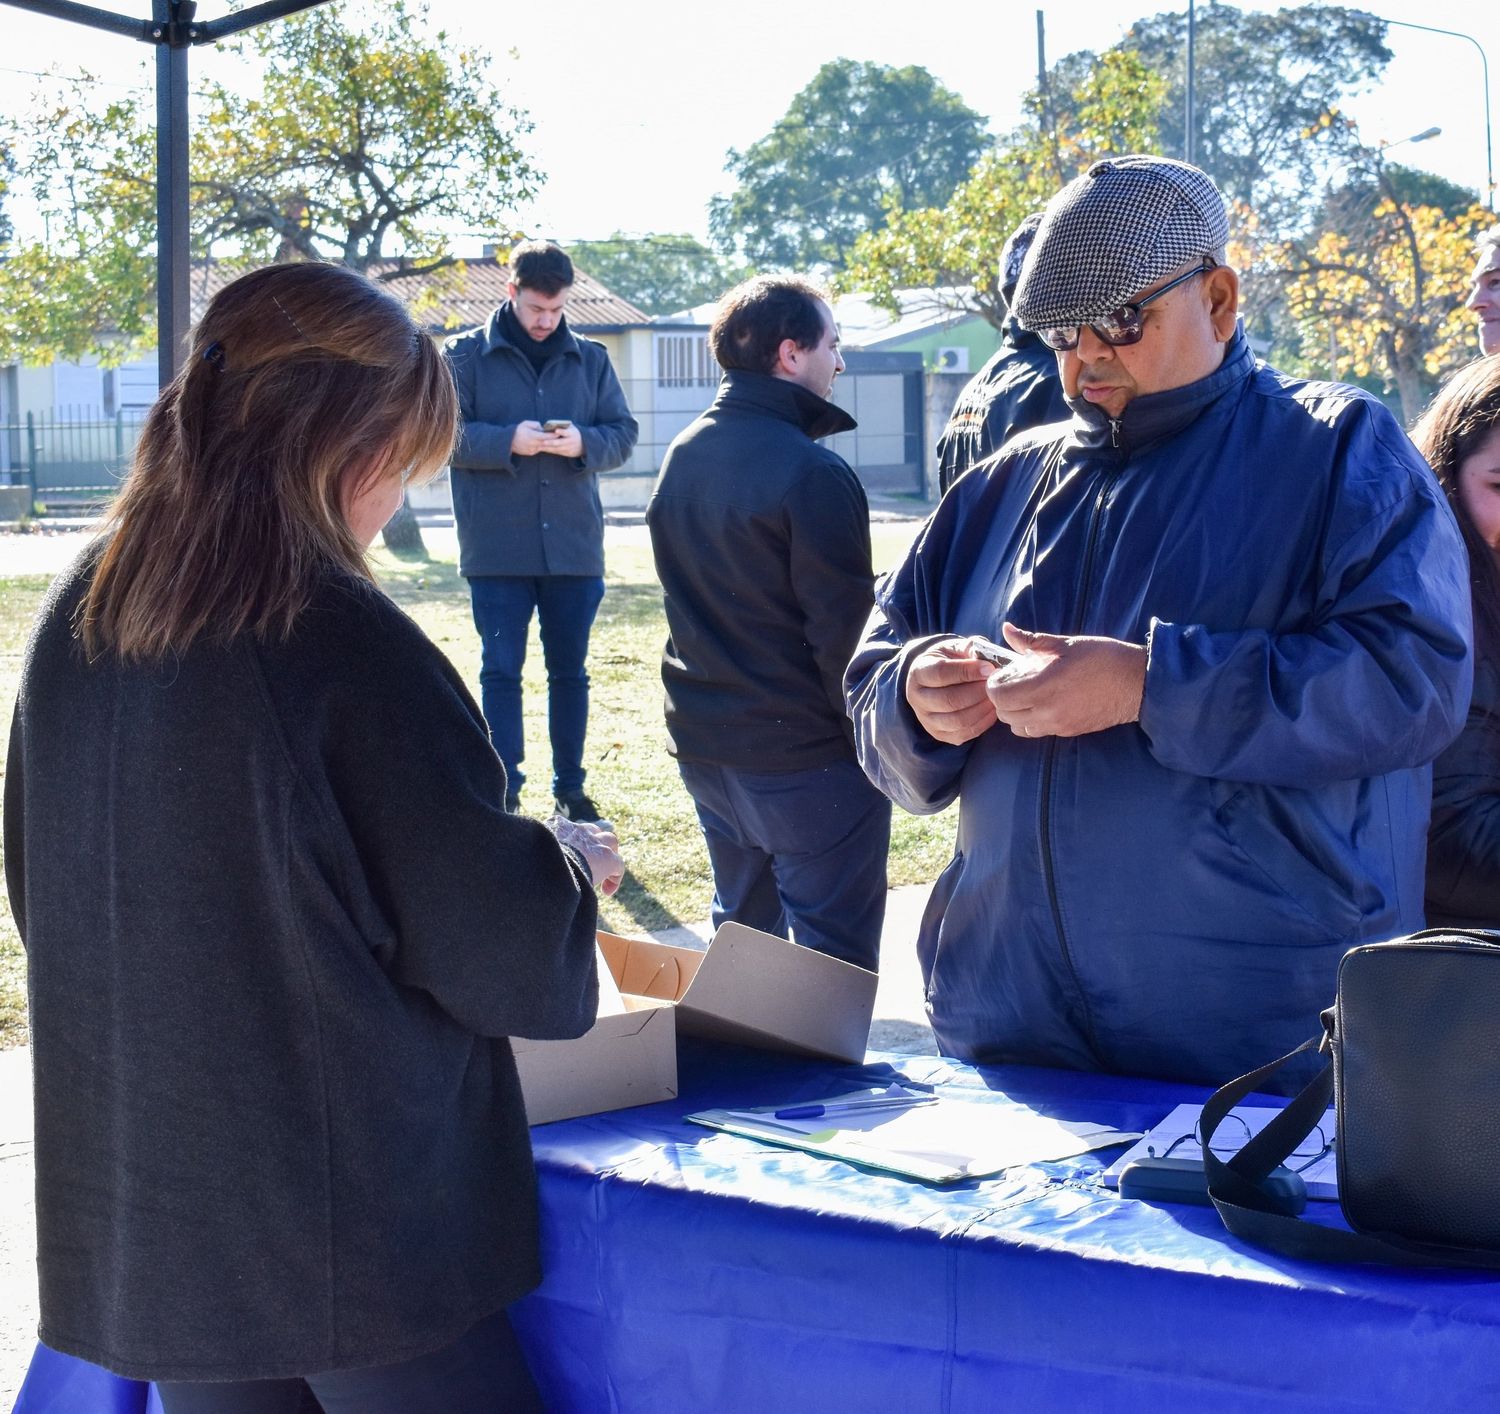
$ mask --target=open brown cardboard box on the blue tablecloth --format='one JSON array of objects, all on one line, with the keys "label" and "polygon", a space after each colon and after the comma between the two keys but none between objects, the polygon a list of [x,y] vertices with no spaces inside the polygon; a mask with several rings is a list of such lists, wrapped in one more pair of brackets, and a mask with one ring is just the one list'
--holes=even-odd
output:
[{"label": "open brown cardboard box on the blue tablecloth", "polygon": [[864,1060],[873,972],[724,924],[706,952],[598,934],[620,1011],[576,1041],[514,1041],[526,1117],[549,1120],[676,1098],[676,1030],[735,1045]]}]

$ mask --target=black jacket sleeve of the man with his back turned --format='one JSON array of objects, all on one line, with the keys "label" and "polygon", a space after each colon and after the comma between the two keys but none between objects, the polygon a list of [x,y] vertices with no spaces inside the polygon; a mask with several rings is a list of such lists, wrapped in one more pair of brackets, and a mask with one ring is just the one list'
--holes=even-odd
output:
[{"label": "black jacket sleeve of the man with his back turned", "polygon": [[828,705],[848,723],[843,675],[874,598],[870,504],[843,462],[820,462],[782,502],[792,594]]}]

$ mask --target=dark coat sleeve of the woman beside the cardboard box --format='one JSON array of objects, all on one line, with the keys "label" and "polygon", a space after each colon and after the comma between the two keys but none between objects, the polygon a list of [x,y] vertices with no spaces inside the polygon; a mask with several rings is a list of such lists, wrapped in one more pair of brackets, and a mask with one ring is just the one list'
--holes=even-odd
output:
[{"label": "dark coat sleeve of the woman beside the cardboard box", "polygon": [[504,768],[441,654],[394,607],[375,616],[378,633],[345,633],[320,732],[351,913],[396,982],[470,1030],[582,1035],[597,1009],[588,873],[506,811]]}]

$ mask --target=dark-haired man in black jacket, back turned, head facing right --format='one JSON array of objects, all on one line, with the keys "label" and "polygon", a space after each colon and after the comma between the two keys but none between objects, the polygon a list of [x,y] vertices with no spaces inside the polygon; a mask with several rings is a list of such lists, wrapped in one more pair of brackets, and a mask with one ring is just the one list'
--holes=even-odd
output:
[{"label": "dark-haired man in black jacket, back turned, head facing right", "polygon": [[870,510],[816,439],[838,330],[806,280],[720,303],[724,381],[670,445],[646,525],[666,595],[670,751],[714,870],[714,924],[748,924],[873,969],[891,805],[864,778],[843,670],[873,603]]}]

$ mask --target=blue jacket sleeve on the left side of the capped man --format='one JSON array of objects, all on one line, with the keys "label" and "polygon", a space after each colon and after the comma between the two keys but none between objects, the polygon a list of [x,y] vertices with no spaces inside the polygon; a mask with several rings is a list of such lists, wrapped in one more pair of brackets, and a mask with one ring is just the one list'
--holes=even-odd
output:
[{"label": "blue jacket sleeve on the left side of the capped man", "polygon": [[844,673],[844,700],[864,774],[912,814],[936,814],[958,796],[969,745],[930,736],[906,700],[912,661],[952,630],[944,624],[940,577],[962,478],[906,558],[878,586],[874,609]]}]

